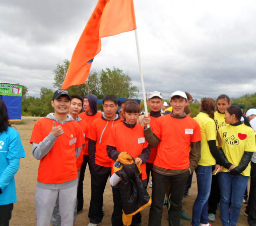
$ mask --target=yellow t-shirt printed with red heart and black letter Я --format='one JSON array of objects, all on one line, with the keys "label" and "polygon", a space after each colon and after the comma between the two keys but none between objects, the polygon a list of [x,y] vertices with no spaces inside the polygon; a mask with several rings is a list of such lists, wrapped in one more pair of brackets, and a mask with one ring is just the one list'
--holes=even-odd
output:
[{"label": "yellow t-shirt printed with red heart and black letter \u042f", "polygon": [[[222,138],[224,154],[234,166],[239,165],[245,151],[254,152],[256,150],[254,130],[244,124],[221,127],[219,133]],[[223,167],[222,172],[228,172],[228,169]],[[250,176],[250,164],[241,174]]]}]

